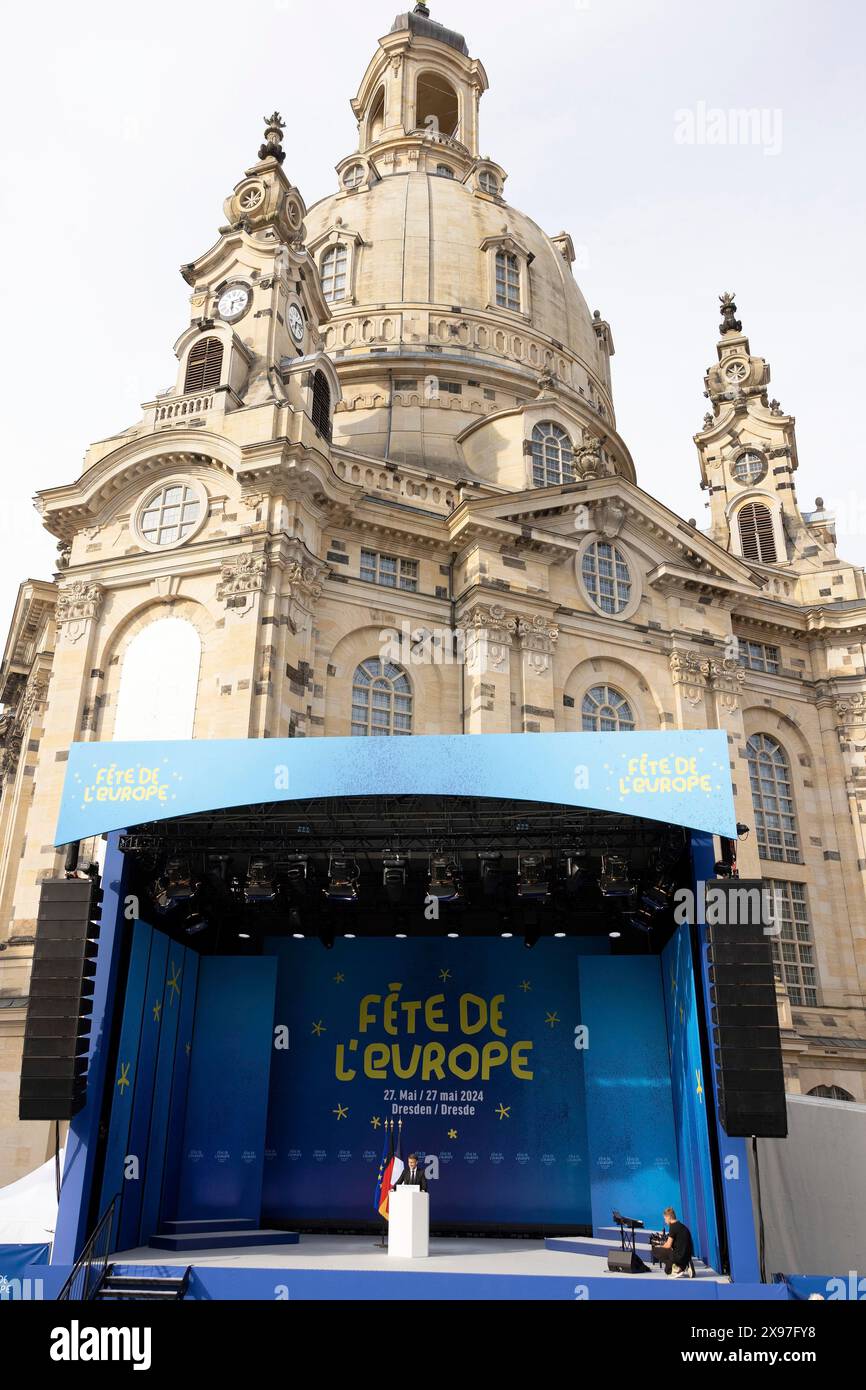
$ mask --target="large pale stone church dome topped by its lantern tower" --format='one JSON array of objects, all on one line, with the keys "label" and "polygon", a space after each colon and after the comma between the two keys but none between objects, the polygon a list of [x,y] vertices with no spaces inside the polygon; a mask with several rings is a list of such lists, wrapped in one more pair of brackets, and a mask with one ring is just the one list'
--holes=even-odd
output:
[{"label": "large pale stone church dome topped by its lantern tower", "polygon": [[516,459],[544,420],[634,478],[610,328],[574,279],[571,238],[512,207],[505,170],[478,153],[487,86],[463,36],[420,4],[379,40],[352,103],[357,152],[307,214],[343,393],[335,443],[518,488]]}]

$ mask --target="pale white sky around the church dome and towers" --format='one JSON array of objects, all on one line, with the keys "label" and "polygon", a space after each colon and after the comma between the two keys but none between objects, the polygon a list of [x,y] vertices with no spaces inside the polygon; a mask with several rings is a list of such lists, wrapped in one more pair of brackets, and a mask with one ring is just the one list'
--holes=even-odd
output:
[{"label": "pale white sky around the church dome and towers", "polygon": [[[72,481],[88,443],[172,381],[189,321],[178,267],[215,240],[263,117],[282,111],[307,204],[329,193],[356,147],[349,97],[396,13],[396,0],[7,8],[3,635],[18,582],[54,567],[32,493]],[[801,506],[816,493],[835,506],[840,550],[860,564],[865,13],[860,0],[431,3],[485,64],[481,153],[507,171],[509,202],[580,247],[581,288],[613,327],[617,424],[641,486],[706,525],[692,434],[717,296],[734,289],[770,395],[798,420]],[[770,153],[680,143],[677,113],[701,103],[763,110]]]}]

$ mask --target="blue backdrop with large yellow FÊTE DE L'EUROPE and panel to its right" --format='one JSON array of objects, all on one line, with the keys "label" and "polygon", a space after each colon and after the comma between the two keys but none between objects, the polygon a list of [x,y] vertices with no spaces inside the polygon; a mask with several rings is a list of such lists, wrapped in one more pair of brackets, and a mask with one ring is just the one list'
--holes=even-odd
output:
[{"label": "blue backdrop with large yellow F\u00caTE DE L'EUROPE and panel to its right", "polygon": [[[374,1219],[393,1118],[403,1158],[423,1155],[434,1220],[589,1226],[598,1205],[607,1225],[620,1202],[657,1225],[678,1198],[659,960],[591,959],[599,945],[267,942],[263,1222]],[[602,1029],[617,998],[621,1029]]]}]

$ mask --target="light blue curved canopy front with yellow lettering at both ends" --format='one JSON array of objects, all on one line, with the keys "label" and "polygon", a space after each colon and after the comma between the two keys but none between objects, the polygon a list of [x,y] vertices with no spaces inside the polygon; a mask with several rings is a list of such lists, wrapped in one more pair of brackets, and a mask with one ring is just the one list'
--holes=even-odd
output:
[{"label": "light blue curved canopy front with yellow lettering at both ends", "polygon": [[499,796],[734,838],[723,730],[72,744],[56,844],[316,796]]}]

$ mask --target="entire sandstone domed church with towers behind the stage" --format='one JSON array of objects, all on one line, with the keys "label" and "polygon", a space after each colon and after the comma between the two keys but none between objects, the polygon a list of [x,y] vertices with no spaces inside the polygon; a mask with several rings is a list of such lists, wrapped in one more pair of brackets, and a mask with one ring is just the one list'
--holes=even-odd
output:
[{"label": "entire sandstone domed church with towers behind the stage", "polygon": [[731,295],[709,530],[641,489],[571,238],[480,154],[487,85],[424,4],[400,15],[311,208],[274,113],[182,267],[177,379],[38,495],[57,574],[21,585],[0,669],[0,1184],[51,1152],[17,1095],[74,741],[721,727],[740,869],[776,891],[788,1088],[866,1101],[866,577],[798,505]]}]

